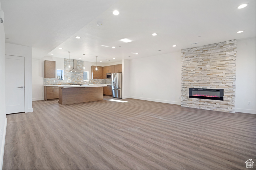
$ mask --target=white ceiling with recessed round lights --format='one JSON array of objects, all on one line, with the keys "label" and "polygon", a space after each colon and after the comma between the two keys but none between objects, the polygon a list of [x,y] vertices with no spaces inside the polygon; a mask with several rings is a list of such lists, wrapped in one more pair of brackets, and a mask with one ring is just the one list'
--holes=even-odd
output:
[{"label": "white ceiling with recessed round lights", "polygon": [[[249,5],[237,9],[243,3]],[[71,51],[70,59],[86,54],[86,61],[94,62],[98,56],[98,61],[112,63],[256,36],[255,0],[1,0],[1,4],[10,38],[6,42],[33,47],[37,59],[68,58]],[[120,14],[113,15],[113,10]],[[244,32],[238,34],[240,30]],[[119,41],[123,38],[132,42]],[[191,45],[195,42],[199,44]]]}]

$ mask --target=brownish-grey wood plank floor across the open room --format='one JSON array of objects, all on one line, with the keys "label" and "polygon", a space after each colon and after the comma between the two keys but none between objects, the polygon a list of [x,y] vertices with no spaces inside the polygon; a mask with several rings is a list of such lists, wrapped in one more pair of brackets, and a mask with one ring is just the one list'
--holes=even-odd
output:
[{"label": "brownish-grey wood plank floor across the open room", "polygon": [[[7,115],[3,169],[247,169],[256,115],[121,99]],[[256,167],[253,165],[254,168]]]}]

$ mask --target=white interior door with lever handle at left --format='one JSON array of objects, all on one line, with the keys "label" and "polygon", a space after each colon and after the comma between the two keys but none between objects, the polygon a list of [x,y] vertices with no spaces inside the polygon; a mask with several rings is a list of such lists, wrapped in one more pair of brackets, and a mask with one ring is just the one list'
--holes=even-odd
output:
[{"label": "white interior door with lever handle at left", "polygon": [[5,55],[6,114],[25,112],[24,57]]}]

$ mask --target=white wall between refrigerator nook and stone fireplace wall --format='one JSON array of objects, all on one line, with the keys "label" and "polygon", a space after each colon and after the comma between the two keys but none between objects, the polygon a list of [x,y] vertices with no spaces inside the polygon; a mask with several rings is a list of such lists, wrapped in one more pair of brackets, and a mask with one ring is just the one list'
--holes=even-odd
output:
[{"label": "white wall between refrigerator nook and stone fireplace wall", "polygon": [[181,52],[130,61],[130,98],[180,104]]}]

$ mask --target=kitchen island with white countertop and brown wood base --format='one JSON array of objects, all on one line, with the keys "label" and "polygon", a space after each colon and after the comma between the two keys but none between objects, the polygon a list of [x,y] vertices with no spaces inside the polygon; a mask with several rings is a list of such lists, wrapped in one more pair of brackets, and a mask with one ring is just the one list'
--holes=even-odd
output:
[{"label": "kitchen island with white countertop and brown wood base", "polygon": [[103,100],[103,87],[106,85],[60,85],[59,103],[72,104]]}]

